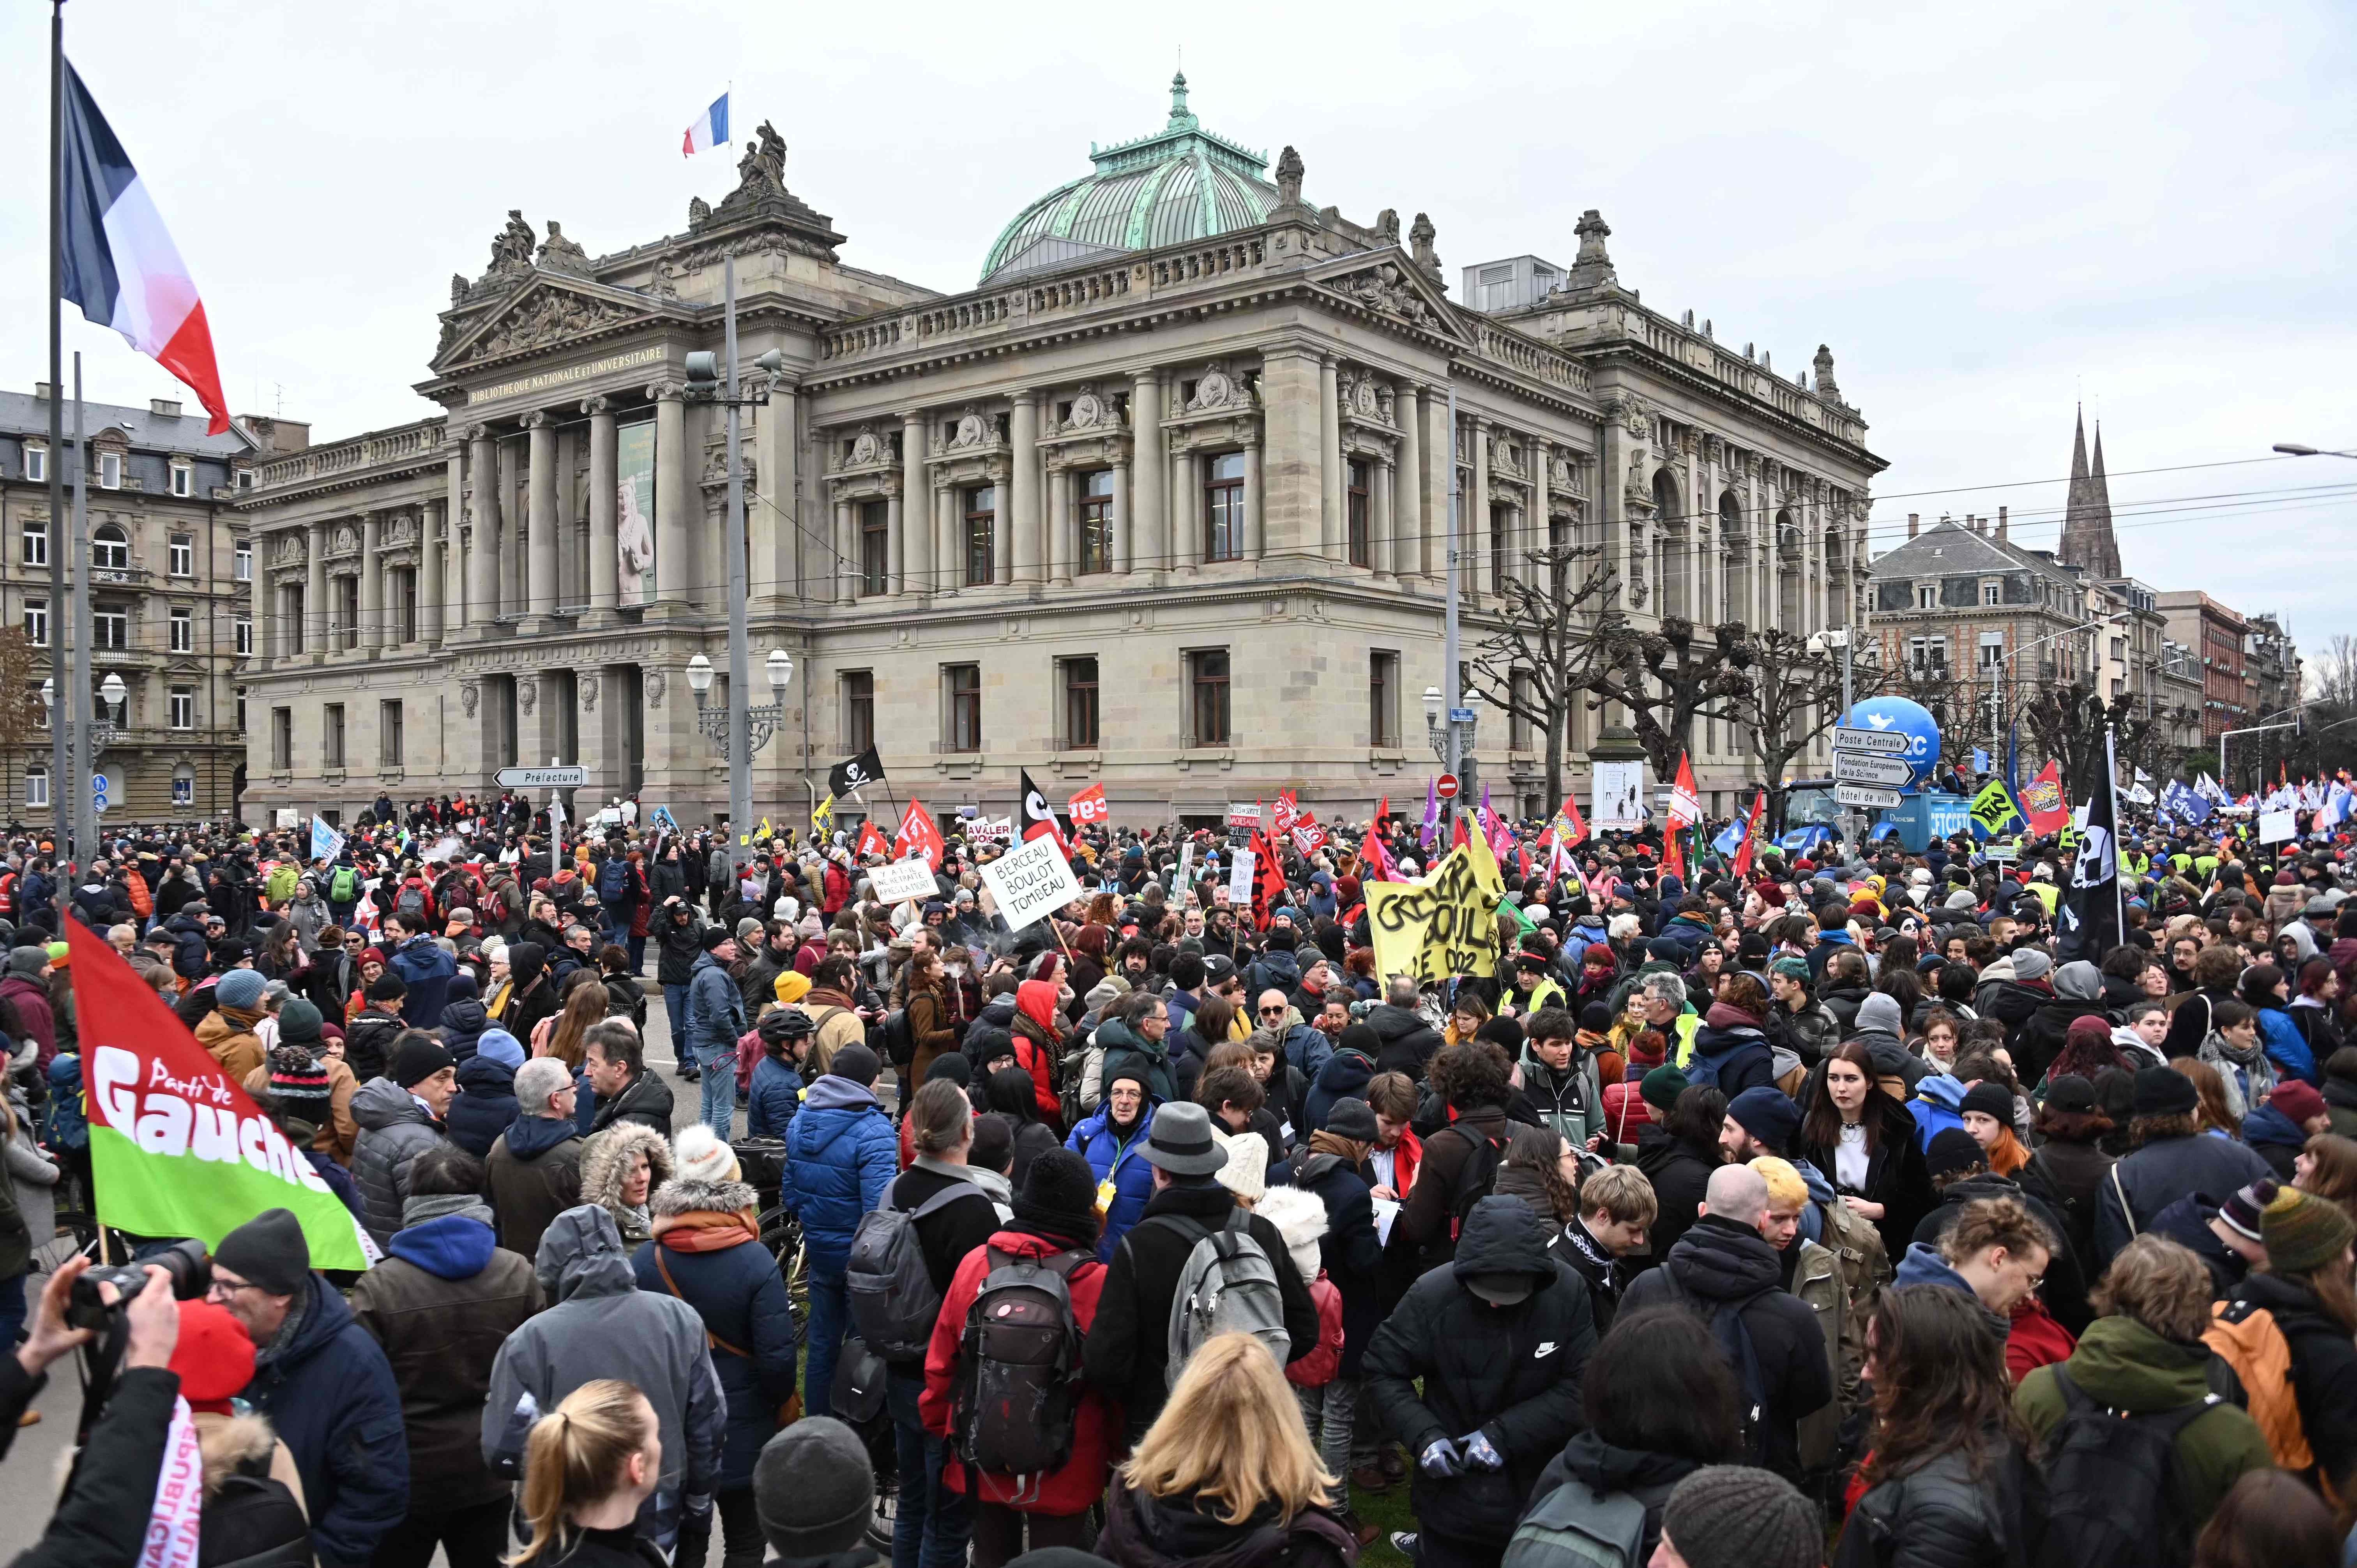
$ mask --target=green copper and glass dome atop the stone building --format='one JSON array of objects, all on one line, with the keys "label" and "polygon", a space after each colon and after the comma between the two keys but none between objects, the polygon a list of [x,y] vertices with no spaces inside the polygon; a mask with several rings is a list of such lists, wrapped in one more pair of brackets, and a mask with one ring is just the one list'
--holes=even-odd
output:
[{"label": "green copper and glass dome atop the stone building", "polygon": [[1277,205],[1254,153],[1202,130],[1186,106],[1186,73],[1171,78],[1171,118],[1136,141],[1089,146],[1096,172],[1023,207],[990,248],[983,283],[1044,271],[1117,250],[1183,245],[1252,229]]}]

